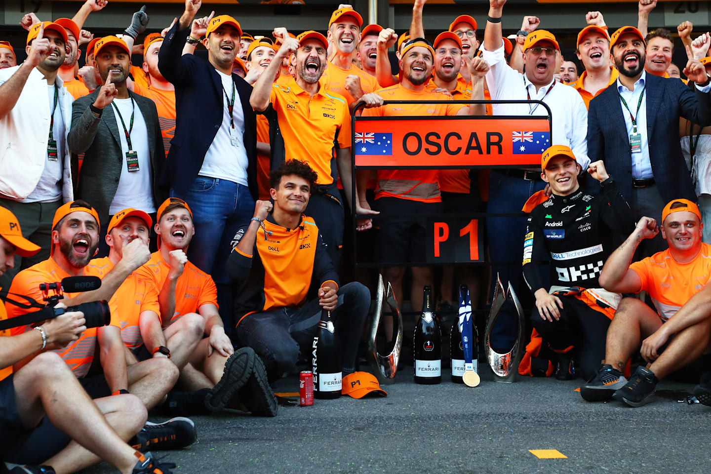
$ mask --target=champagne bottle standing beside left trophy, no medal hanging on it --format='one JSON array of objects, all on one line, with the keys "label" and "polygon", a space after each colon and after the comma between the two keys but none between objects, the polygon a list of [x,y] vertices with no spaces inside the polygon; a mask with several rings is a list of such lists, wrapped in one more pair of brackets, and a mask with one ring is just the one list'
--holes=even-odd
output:
[{"label": "champagne bottle standing beside left trophy, no medal hanging on it", "polygon": [[432,311],[431,286],[424,287],[422,315],[415,326],[412,347],[415,351],[415,383],[442,382],[442,331]]}]

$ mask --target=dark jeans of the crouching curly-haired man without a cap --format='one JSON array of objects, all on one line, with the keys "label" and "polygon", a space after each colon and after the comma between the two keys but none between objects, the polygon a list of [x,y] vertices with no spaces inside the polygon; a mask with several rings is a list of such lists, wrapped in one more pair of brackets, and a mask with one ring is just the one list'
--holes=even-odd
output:
[{"label": "dark jeans of the crouching curly-haired man without a cap", "polygon": [[[344,376],[355,371],[360,334],[369,308],[370,290],[363,284],[353,281],[338,289],[338,306],[331,311],[331,318],[341,340]],[[257,352],[264,362],[269,380],[278,379],[284,372],[294,370],[299,352],[304,355],[311,353],[311,343],[320,320],[318,299],[307,302],[301,308],[252,313],[237,326],[237,341]]]}]

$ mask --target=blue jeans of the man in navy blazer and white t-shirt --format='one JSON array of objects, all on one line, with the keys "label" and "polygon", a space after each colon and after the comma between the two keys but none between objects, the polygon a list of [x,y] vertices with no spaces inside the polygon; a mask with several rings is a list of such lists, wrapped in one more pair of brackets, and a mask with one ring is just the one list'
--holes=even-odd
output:
[{"label": "blue jeans of the man in navy blazer and white t-shirt", "polygon": [[210,274],[218,288],[220,316],[225,333],[232,324],[232,291],[225,273],[225,262],[232,252],[232,238],[237,229],[250,222],[255,212],[255,200],[250,189],[218,178],[198,176],[184,193],[171,189],[171,198],[181,198],[193,211],[195,235],[190,242],[188,258],[199,269]]}]

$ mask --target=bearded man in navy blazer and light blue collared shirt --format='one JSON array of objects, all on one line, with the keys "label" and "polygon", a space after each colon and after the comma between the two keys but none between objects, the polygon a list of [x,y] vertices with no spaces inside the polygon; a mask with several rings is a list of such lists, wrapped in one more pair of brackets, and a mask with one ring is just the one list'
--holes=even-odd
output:
[{"label": "bearded man in navy blazer and light blue collared shirt", "polygon": [[[646,73],[644,38],[632,26],[612,33],[610,57],[619,77],[590,101],[588,156],[604,160],[636,219],[648,216],[661,223],[665,203],[696,200],[681,151],[679,117],[711,124],[709,77],[697,60],[684,69],[694,87]],[[648,240],[645,254],[666,248],[661,237]]]}]

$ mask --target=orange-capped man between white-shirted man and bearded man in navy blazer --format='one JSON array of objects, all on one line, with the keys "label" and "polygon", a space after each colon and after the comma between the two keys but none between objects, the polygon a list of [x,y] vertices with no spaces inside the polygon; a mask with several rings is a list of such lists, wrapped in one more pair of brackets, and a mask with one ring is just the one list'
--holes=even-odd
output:
[{"label": "orange-capped man between white-shirted man and bearded man in navy blazer", "polygon": [[[577,36],[577,58],[585,68],[578,80],[572,84],[580,93],[585,107],[590,101],[617,80],[619,72],[609,64],[610,38],[603,28],[602,14],[594,19],[595,24],[586,26]],[[601,25],[602,23],[602,25]]]}]

